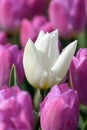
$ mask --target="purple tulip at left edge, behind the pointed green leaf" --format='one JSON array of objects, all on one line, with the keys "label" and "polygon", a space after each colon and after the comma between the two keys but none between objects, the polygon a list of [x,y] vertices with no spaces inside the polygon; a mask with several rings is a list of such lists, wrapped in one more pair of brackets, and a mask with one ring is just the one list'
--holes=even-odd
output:
[{"label": "purple tulip at left edge, behind the pointed green leaf", "polygon": [[23,51],[17,45],[0,45],[0,87],[8,84],[13,64],[16,67],[18,83],[21,84],[24,78],[22,56]]}]

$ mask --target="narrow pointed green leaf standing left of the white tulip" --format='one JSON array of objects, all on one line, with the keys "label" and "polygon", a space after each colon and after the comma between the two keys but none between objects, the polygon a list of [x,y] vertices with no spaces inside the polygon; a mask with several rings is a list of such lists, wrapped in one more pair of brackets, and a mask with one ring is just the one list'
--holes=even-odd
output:
[{"label": "narrow pointed green leaf standing left of the white tulip", "polygon": [[9,80],[9,87],[17,85],[17,73],[15,65],[12,65],[11,72],[10,72],[10,80]]}]

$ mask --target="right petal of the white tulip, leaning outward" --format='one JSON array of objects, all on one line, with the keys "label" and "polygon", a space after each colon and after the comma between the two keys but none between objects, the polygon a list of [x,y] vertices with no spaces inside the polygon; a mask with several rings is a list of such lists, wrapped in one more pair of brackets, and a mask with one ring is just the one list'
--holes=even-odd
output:
[{"label": "right petal of the white tulip, leaning outward", "polygon": [[69,44],[60,54],[55,65],[51,68],[51,72],[56,77],[56,82],[59,83],[65,76],[70,66],[72,57],[75,53],[77,40]]}]

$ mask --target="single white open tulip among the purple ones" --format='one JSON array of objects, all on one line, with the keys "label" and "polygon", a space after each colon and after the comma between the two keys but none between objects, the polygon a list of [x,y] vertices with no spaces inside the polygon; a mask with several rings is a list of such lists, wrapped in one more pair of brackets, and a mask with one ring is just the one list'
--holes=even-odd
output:
[{"label": "single white open tulip among the purple ones", "polygon": [[29,39],[23,56],[28,82],[41,89],[59,84],[68,71],[76,46],[75,40],[59,55],[58,30],[46,34],[41,31],[35,44]]}]

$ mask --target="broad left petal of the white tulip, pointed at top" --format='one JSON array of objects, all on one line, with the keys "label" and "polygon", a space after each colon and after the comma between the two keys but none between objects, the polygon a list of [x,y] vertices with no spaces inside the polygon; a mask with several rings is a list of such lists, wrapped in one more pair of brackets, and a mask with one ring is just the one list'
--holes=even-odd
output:
[{"label": "broad left petal of the white tulip, pointed at top", "polygon": [[43,85],[47,73],[44,71],[36,47],[30,39],[28,40],[24,50],[23,66],[26,78],[31,85],[35,87],[40,86],[40,84]]}]

